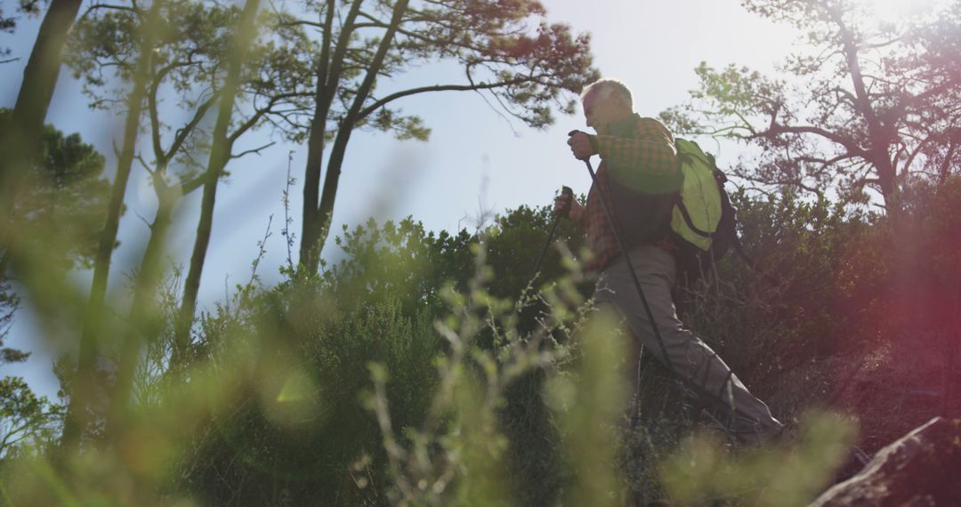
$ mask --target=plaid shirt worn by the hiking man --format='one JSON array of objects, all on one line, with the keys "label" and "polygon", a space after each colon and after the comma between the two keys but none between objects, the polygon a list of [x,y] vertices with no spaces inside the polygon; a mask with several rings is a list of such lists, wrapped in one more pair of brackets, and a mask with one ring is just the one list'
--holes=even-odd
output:
[{"label": "plaid shirt worn by the hiking man", "polygon": [[[608,206],[611,205],[608,197],[611,195],[611,171],[619,175],[618,181],[635,188],[657,192],[676,187],[678,165],[674,134],[664,124],[635,113],[627,120],[611,125],[610,132],[613,135],[590,136],[595,153],[601,156],[597,182]],[[586,209],[579,220],[580,226],[587,231],[587,246],[594,255],[584,264],[584,269],[591,273],[603,271],[621,255],[597,191],[597,185],[591,185]],[[670,248],[669,244],[657,244]]]}]

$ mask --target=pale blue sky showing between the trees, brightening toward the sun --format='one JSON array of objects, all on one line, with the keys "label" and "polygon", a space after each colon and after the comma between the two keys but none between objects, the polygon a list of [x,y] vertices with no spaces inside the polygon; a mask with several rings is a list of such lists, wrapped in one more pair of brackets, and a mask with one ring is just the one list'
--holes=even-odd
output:
[{"label": "pale blue sky showing between the trees, brightening toward the sun", "polygon": [[[12,0],[2,0],[12,12]],[[891,0],[879,0],[892,3]],[[634,94],[634,109],[655,116],[676,106],[697,86],[695,67],[707,61],[772,71],[789,54],[796,34],[791,27],[745,11],[739,0],[544,0],[551,22],[570,24],[577,33],[592,36],[595,66],[605,77],[624,81]],[[85,2],[86,6],[86,2]],[[12,108],[22,69],[37,33],[38,19],[21,19],[13,36],[0,36],[12,48],[12,63],[0,72],[0,107]],[[455,66],[438,62],[414,69],[390,85],[444,84],[459,76]],[[340,179],[331,239],[324,257],[336,262],[333,246],[341,225],[354,227],[374,216],[379,221],[412,216],[431,230],[473,229],[481,212],[498,213],[518,205],[548,205],[561,185],[586,193],[590,177],[567,146],[566,133],[583,129],[583,117],[557,116],[553,127],[535,131],[520,121],[508,121],[474,92],[441,92],[412,96],[398,104],[420,115],[432,129],[427,142],[397,141],[388,134],[362,133],[352,137]],[[115,170],[112,144],[120,143],[122,115],[87,108],[80,84],[62,72],[46,122],[64,133],[79,132],[107,157],[107,172]],[[243,147],[269,142],[269,133],[252,135]],[[727,148],[732,150],[732,148]],[[719,164],[736,153],[718,154]],[[278,142],[259,156],[234,160],[232,176],[221,183],[214,211],[208,261],[201,280],[200,307],[211,308],[226,299],[227,287],[246,281],[259,252],[268,217],[271,233],[259,276],[265,285],[276,282],[286,261],[283,227],[283,189],[288,163],[297,183],[291,190],[291,230],[300,232],[301,192],[306,145]],[[128,186],[128,211],[119,231],[120,247],[113,254],[111,296],[124,300],[123,274],[139,262],[149,234],[146,222],[156,209],[153,190],[142,169],[135,168]],[[176,231],[168,255],[186,265],[199,214],[199,194],[178,208]],[[296,245],[294,247],[296,249]],[[296,261],[296,250],[293,252]],[[76,274],[78,290],[88,291],[91,275]],[[15,317],[6,344],[33,355],[24,364],[0,367],[0,375],[24,376],[38,394],[54,398],[58,389],[50,373],[63,351],[42,338],[29,302]],[[77,330],[79,339],[80,331]]]}]

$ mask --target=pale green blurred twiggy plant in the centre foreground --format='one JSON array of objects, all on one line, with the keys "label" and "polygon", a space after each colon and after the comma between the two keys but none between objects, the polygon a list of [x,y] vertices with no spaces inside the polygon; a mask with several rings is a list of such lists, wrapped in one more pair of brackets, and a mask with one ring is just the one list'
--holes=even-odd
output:
[{"label": "pale green blurred twiggy plant in the centre foreground", "polygon": [[[554,300],[541,326],[524,332],[518,327],[518,308],[512,300],[490,294],[486,284],[485,238],[472,250],[477,254],[476,276],[466,293],[443,291],[448,315],[435,323],[449,345],[438,361],[440,385],[432,397],[424,424],[408,433],[409,444],[399,444],[384,396],[382,371],[373,369],[377,391],[371,400],[390,459],[393,488],[388,492],[400,505],[510,505],[505,488],[509,461],[499,412],[508,402],[505,389],[531,369],[542,368],[563,356],[551,347],[554,333],[568,335],[583,318],[564,310],[582,299],[572,291],[548,290]],[[495,236],[496,237],[496,236]],[[493,334],[492,345],[479,342],[482,332]],[[527,484],[510,482],[520,488]]]}]

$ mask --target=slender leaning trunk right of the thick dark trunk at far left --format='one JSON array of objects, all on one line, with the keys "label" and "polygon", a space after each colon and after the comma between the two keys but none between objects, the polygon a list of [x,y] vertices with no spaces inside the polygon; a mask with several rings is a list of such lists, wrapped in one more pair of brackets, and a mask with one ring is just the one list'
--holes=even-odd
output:
[{"label": "slender leaning trunk right of the thick dark trunk at far left", "polygon": [[120,226],[123,198],[127,191],[127,181],[130,179],[130,171],[134,163],[136,136],[140,127],[140,113],[143,109],[143,100],[150,79],[150,70],[153,64],[152,48],[157,35],[156,25],[160,17],[162,3],[162,0],[154,2],[143,25],[143,37],[136,64],[134,85],[128,98],[123,149],[117,160],[117,174],[113,181],[107,221],[104,224],[103,232],[100,234],[97,254],[94,259],[93,282],[90,286],[90,300],[86,308],[84,328],[80,337],[77,373],[70,394],[70,404],[63,422],[62,444],[67,452],[77,450],[84,428],[90,421],[91,415],[87,413],[87,401],[92,399],[95,394],[97,340],[104,334],[103,317],[107,296],[107,278],[110,274],[111,255],[116,244],[117,229]]}]

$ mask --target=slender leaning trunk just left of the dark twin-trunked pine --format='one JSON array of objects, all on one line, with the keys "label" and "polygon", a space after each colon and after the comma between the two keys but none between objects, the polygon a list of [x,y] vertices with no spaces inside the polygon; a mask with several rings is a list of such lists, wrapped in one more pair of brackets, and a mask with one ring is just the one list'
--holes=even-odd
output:
[{"label": "slender leaning trunk just left of the dark twin-trunked pine", "polygon": [[243,67],[247,51],[252,40],[257,36],[257,12],[259,0],[247,0],[240,18],[240,26],[234,34],[234,50],[228,66],[227,77],[224,81],[223,95],[220,99],[220,109],[217,112],[217,122],[213,127],[210,157],[207,166],[206,181],[204,181],[204,197],[201,201],[200,221],[197,224],[197,236],[190,255],[190,268],[184,282],[184,300],[181,302],[180,312],[174,331],[174,350],[171,366],[181,367],[186,361],[186,349],[190,344],[190,327],[193,326],[193,314],[197,307],[197,293],[200,290],[200,277],[204,271],[204,261],[210,243],[210,231],[213,228],[213,205],[217,194],[217,182],[231,156],[232,142],[228,139],[227,130],[231,125],[231,115],[234,111],[234,100],[240,83],[240,71]]}]

